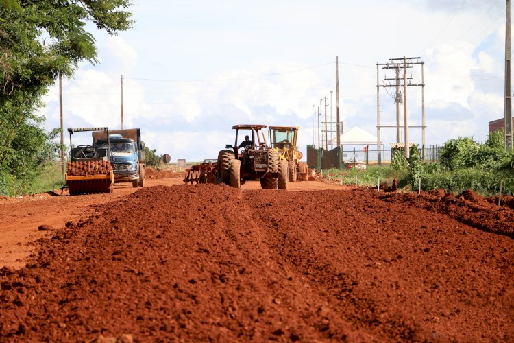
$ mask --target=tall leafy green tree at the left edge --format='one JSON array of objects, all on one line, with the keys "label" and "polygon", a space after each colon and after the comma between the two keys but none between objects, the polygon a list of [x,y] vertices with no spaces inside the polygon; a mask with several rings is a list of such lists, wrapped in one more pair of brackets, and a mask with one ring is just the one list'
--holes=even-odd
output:
[{"label": "tall leafy green tree at the left edge", "polygon": [[0,176],[29,179],[56,149],[36,111],[58,75],[96,63],[86,23],[108,34],[132,25],[130,0],[0,0]]}]

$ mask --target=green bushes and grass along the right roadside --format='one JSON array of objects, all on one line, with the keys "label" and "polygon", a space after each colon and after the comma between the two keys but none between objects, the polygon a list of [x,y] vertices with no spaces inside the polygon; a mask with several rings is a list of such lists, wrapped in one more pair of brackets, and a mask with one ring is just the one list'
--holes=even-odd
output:
[{"label": "green bushes and grass along the right roadside", "polygon": [[393,179],[404,190],[430,191],[444,189],[461,193],[472,189],[484,196],[500,193],[514,196],[514,153],[504,149],[504,132],[492,132],[484,143],[471,137],[447,141],[439,152],[439,162],[421,160],[417,145],[410,150],[410,158],[403,152],[393,154],[391,165],[367,169],[323,171],[323,178],[347,185],[377,187],[378,183],[391,186]]}]

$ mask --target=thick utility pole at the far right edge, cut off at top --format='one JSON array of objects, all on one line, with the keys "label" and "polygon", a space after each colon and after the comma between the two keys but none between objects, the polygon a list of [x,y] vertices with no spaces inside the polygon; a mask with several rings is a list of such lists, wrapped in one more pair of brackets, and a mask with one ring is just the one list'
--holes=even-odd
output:
[{"label": "thick utility pole at the far right edge, cut off at top", "polygon": [[512,150],[511,88],[511,0],[506,0],[505,16],[505,150]]}]

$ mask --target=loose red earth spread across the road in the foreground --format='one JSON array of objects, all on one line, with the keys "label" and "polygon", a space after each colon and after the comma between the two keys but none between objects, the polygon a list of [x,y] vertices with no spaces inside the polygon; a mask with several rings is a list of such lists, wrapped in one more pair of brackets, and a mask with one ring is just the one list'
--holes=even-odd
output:
[{"label": "loose red earth spread across the road in the foreground", "polygon": [[4,263],[0,341],[514,340],[511,198],[176,183],[47,200],[73,215]]}]

